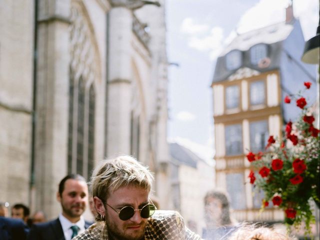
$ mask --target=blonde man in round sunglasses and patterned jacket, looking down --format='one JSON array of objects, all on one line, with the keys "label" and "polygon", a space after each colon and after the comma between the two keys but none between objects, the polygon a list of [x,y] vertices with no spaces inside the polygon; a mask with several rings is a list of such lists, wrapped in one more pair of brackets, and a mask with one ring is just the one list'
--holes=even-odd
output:
[{"label": "blonde man in round sunglasses and patterned jacket, looking down", "polygon": [[97,222],[73,240],[197,240],[176,211],[156,210],[150,200],[152,173],[131,156],[106,159],[91,177]]}]

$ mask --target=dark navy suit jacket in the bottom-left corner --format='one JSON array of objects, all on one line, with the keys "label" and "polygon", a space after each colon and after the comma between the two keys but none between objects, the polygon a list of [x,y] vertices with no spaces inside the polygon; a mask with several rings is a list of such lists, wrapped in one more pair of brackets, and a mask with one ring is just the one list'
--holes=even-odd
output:
[{"label": "dark navy suit jacket in the bottom-left corner", "polygon": [[0,240],[25,240],[27,230],[21,219],[0,216]]}]

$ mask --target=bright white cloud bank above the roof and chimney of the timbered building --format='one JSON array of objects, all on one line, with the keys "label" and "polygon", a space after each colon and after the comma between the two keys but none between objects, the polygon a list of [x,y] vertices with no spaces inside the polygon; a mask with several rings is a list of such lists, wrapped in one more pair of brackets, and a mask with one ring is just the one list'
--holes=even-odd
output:
[{"label": "bright white cloud bank above the roof and chimney of the timbered building", "polygon": [[[284,21],[285,8],[289,2],[289,0],[260,0],[242,15],[234,28],[238,33],[243,33]],[[317,4],[317,0],[293,1],[294,16],[300,20],[305,40],[315,35],[319,19]],[[183,20],[180,29],[188,34],[188,46],[198,51],[207,51],[211,60],[215,59],[223,47],[236,36],[235,30],[225,37],[221,27],[210,28],[209,24],[196,24],[190,17]]]}]

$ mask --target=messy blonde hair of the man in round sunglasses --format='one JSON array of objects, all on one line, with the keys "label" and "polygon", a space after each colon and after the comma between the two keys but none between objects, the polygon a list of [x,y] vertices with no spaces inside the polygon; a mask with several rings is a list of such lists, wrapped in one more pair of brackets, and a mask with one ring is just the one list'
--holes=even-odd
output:
[{"label": "messy blonde hair of the man in round sunglasses", "polygon": [[89,184],[92,195],[104,203],[120,187],[135,185],[150,190],[152,180],[148,167],[131,156],[121,155],[101,161],[93,170]]}]

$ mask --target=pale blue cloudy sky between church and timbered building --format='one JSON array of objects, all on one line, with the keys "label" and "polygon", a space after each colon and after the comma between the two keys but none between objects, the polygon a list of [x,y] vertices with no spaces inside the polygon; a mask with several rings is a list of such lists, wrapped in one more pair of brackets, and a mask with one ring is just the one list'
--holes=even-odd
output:
[{"label": "pale blue cloudy sky between church and timbered building", "polygon": [[[285,20],[290,0],[166,0],[168,141],[214,156],[210,84],[215,60],[237,33]],[[293,0],[304,39],[315,35],[318,0]],[[178,64],[178,65],[177,65]]]}]

